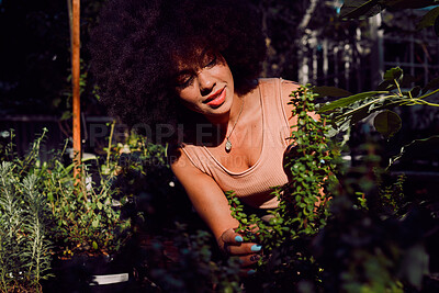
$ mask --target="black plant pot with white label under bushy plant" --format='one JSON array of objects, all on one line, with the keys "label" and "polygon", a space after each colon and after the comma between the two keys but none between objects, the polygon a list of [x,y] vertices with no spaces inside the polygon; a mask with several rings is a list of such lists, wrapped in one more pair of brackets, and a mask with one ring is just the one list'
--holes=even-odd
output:
[{"label": "black plant pot with white label under bushy plant", "polygon": [[132,269],[111,256],[75,256],[54,260],[55,278],[43,282],[45,293],[131,292]]}]

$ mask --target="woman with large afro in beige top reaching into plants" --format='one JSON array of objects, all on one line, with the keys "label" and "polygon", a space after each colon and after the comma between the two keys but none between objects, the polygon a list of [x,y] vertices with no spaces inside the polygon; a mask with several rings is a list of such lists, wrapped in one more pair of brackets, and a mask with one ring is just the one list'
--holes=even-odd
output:
[{"label": "woman with large afro in beige top reaching into plants", "polygon": [[112,0],[91,47],[102,102],[175,146],[172,171],[243,267],[262,247],[234,232],[224,192],[260,214],[277,206],[270,193],[288,181],[282,157],[295,123],[288,102],[297,88],[257,79],[266,44],[256,15],[245,1]]}]

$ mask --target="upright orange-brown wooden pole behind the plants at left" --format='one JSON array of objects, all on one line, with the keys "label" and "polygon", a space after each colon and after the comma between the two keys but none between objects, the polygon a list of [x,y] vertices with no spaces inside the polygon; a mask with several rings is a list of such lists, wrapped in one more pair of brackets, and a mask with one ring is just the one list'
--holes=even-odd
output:
[{"label": "upright orange-brown wooden pole behind the plants at left", "polygon": [[[69,0],[70,1],[70,0]],[[71,18],[71,82],[72,82],[72,111],[74,111],[74,176],[77,182],[80,181],[81,165],[81,102],[80,102],[80,37],[79,37],[79,20],[80,20],[80,0],[72,1]]]}]

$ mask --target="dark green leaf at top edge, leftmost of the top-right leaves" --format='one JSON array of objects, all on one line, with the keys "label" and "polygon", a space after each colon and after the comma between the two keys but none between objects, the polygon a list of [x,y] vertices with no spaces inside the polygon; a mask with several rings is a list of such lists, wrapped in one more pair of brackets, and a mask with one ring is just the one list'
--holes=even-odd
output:
[{"label": "dark green leaf at top edge, leftmost of the top-right leaves", "polygon": [[340,10],[341,19],[363,19],[380,13],[379,0],[346,0]]}]

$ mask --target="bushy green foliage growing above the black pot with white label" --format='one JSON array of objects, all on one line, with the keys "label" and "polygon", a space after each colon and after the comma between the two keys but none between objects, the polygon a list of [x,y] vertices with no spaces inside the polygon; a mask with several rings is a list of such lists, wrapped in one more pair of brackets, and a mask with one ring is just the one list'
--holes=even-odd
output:
[{"label": "bushy green foliage growing above the black pot with white label", "polygon": [[66,167],[60,162],[63,153],[49,162],[44,181],[58,252],[64,257],[117,252],[128,239],[131,226],[121,211],[126,198],[115,200],[117,150],[109,148],[104,162],[99,158],[83,160],[79,182],[72,176],[74,164]]}]

